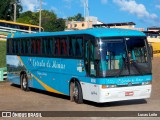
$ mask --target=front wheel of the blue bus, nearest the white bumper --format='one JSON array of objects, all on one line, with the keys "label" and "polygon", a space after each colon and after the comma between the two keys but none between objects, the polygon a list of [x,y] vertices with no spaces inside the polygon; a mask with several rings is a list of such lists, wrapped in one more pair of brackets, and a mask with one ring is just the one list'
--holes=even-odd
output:
[{"label": "front wheel of the blue bus, nearest the white bumper", "polygon": [[82,89],[78,81],[75,81],[75,83],[71,82],[70,93],[71,101],[74,100],[78,104],[83,103]]}]

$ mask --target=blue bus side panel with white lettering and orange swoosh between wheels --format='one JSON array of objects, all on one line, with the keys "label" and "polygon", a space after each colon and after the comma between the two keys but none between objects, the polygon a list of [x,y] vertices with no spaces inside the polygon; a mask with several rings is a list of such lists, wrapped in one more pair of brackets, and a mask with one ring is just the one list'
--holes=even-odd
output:
[{"label": "blue bus side panel with white lettering and orange swoosh between wheels", "polygon": [[33,88],[69,95],[72,78],[84,77],[83,61],[78,59],[20,57],[33,80]]}]

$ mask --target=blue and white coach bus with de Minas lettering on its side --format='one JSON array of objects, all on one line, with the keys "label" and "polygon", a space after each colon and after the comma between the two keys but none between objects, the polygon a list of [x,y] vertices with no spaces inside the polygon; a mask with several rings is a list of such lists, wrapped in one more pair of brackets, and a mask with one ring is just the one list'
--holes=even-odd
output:
[{"label": "blue and white coach bus with de Minas lettering on its side", "polygon": [[8,80],[76,103],[145,99],[152,88],[150,50],[144,33],[127,29],[10,34]]}]

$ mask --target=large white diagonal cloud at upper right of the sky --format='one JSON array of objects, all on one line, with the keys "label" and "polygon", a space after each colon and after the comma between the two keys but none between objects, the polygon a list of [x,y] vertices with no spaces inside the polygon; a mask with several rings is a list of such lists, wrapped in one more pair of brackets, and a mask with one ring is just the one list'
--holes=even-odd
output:
[{"label": "large white diagonal cloud at upper right of the sky", "polygon": [[138,18],[158,18],[156,14],[149,13],[143,4],[138,4],[135,0],[113,0],[113,2],[118,4],[121,10],[135,14]]}]

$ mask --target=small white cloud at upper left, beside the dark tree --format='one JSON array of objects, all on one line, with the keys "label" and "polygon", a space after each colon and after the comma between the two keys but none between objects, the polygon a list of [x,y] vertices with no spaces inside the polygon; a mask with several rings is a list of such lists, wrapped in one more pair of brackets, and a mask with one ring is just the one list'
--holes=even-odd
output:
[{"label": "small white cloud at upper left, beside the dark tree", "polygon": [[36,11],[39,8],[38,0],[21,0],[23,11]]}]

